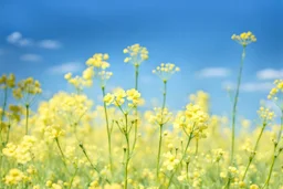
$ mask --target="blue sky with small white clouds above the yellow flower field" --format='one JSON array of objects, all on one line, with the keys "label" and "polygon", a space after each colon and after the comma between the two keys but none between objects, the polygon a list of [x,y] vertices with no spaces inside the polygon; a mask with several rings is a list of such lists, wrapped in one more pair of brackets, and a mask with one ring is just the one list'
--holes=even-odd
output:
[{"label": "blue sky with small white clouds above the yellow flower field", "polygon": [[[149,51],[139,83],[148,102],[161,97],[161,82],[151,70],[172,62],[181,72],[168,84],[170,108],[181,108],[189,94],[203,90],[212,113],[229,115],[224,86],[237,80],[242,50],[230,38],[244,31],[258,42],[248,46],[239,114],[255,118],[273,80],[283,77],[282,0],[1,0],[0,71],[32,75],[48,97],[70,91],[64,73],[80,74],[87,57],[103,52],[114,72],[109,87],[129,88],[134,69],[123,62],[123,49],[139,43]],[[13,32],[21,33],[20,40],[12,39]],[[87,94],[99,103],[98,86]]]}]

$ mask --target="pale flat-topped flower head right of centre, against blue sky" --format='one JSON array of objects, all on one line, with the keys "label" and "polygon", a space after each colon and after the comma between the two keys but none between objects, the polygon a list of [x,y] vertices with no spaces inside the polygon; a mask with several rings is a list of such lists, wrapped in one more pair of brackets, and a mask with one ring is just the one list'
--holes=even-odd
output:
[{"label": "pale flat-topped flower head right of centre, against blue sky", "polygon": [[153,70],[153,73],[158,75],[164,82],[167,82],[172,74],[179,71],[180,69],[172,63],[161,63],[160,66]]}]

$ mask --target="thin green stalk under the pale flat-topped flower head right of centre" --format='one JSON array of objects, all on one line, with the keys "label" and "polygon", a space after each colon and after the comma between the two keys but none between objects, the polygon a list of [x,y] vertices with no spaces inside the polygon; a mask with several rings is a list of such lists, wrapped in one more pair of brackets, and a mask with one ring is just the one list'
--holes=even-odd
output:
[{"label": "thin green stalk under the pale flat-topped flower head right of centre", "polygon": [[158,154],[157,154],[157,162],[156,162],[156,177],[158,180],[159,176],[159,166],[160,166],[160,154],[161,154],[161,145],[163,145],[163,114],[164,114],[164,108],[166,105],[166,93],[167,93],[167,81],[164,81],[164,101],[163,101],[163,109],[161,109],[161,124],[159,125],[159,143],[158,143]]}]

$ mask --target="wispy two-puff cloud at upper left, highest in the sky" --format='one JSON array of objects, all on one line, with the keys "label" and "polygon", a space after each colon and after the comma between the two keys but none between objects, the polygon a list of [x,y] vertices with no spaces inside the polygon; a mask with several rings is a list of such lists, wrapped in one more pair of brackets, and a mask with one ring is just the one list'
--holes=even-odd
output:
[{"label": "wispy two-puff cloud at upper left, highest in the sky", "polygon": [[24,38],[20,32],[13,32],[7,36],[7,42],[17,46],[39,46],[42,49],[55,50],[60,49],[62,44],[55,40],[42,40],[35,41],[32,39]]}]

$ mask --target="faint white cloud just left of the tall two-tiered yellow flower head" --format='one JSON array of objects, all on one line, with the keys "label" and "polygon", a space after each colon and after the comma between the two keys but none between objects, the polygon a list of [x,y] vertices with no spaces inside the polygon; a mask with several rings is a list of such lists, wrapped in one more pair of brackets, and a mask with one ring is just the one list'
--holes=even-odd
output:
[{"label": "faint white cloud just left of the tall two-tiered yellow flower head", "polygon": [[48,70],[49,74],[60,75],[65,74],[67,72],[75,73],[82,70],[82,64],[78,62],[69,62],[60,65],[54,65]]}]

